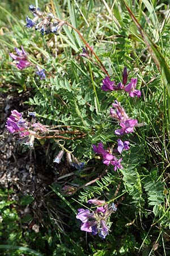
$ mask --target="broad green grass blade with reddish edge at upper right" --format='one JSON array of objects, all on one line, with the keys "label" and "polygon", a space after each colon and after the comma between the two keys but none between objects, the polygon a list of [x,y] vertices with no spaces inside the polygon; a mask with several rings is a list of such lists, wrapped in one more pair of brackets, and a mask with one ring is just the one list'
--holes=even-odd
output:
[{"label": "broad green grass blade with reddish edge at upper right", "polygon": [[143,28],[139,24],[137,18],[135,18],[134,14],[130,10],[129,6],[125,3],[125,1],[124,1],[124,4],[126,6],[126,9],[129,11],[131,19],[133,20],[133,22],[137,26],[139,32],[141,33],[141,36],[142,36],[143,40],[146,43],[148,51],[150,52],[150,54],[152,56],[152,59],[154,60],[156,66],[157,66],[157,68],[158,68],[158,70],[159,70],[159,72],[162,76],[164,84],[168,89],[168,95],[170,97],[170,70],[169,70],[168,64],[165,61],[164,56],[160,52],[159,47],[154,42],[152,42],[150,36],[147,35],[145,30],[143,30]]}]

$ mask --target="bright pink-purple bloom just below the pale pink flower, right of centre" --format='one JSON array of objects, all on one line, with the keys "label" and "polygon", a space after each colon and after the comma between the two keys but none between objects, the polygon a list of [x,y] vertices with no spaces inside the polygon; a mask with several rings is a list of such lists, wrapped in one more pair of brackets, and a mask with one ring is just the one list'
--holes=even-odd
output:
[{"label": "bright pink-purple bloom just below the pale pink flower, right of centre", "polygon": [[121,129],[117,129],[114,131],[116,135],[123,135],[128,133],[133,133],[133,127],[137,125],[137,119],[128,119],[122,123],[120,123]]}]

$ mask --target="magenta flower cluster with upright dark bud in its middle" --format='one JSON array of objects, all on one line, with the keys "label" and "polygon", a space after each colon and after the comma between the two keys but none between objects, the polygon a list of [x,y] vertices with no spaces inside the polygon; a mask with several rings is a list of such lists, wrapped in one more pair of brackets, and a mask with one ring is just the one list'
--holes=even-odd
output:
[{"label": "magenta flower cluster with upright dark bud in its middle", "polygon": [[[122,82],[119,82],[118,85],[115,85],[114,81],[111,81],[109,77],[105,77],[103,79],[103,85],[101,86],[101,90],[104,90],[105,92],[107,91],[112,91],[112,90],[124,90],[125,92],[129,93],[130,97],[135,97],[137,96],[138,98],[141,97],[141,91],[135,89],[137,86],[137,78],[132,78],[131,82],[126,85],[128,81],[128,72],[127,68],[124,68],[123,74],[122,74]],[[126,85],[126,86],[125,86]]]}]

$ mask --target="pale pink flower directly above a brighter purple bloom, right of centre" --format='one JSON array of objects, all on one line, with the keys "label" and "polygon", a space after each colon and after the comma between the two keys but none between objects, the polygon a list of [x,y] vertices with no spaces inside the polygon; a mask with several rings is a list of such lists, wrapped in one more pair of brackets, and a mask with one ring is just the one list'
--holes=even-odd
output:
[{"label": "pale pink flower directly above a brighter purple bloom, right of centre", "polygon": [[115,101],[115,103],[112,104],[112,106],[116,109],[110,109],[110,115],[111,117],[117,119],[118,121],[124,121],[129,119],[128,115],[126,114],[124,108],[120,105],[118,101]]}]

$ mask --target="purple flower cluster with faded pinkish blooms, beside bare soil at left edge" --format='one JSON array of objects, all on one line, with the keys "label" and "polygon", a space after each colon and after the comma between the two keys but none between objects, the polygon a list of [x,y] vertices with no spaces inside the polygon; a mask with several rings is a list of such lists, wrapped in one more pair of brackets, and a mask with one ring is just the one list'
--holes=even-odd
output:
[{"label": "purple flower cluster with faded pinkish blooms, beside bare soil at left edge", "polygon": [[[32,115],[32,113],[31,113]],[[22,113],[19,113],[17,110],[12,110],[10,117],[7,118],[6,129],[10,133],[17,133],[19,137],[22,138],[24,144],[29,147],[33,147],[33,142],[35,137],[39,133],[47,133],[48,129],[39,122],[27,122],[22,117]]]}]

